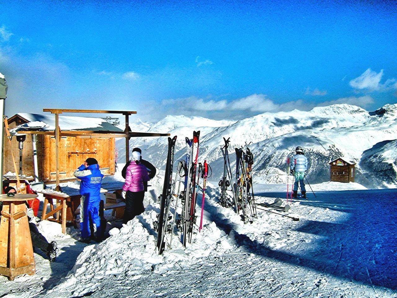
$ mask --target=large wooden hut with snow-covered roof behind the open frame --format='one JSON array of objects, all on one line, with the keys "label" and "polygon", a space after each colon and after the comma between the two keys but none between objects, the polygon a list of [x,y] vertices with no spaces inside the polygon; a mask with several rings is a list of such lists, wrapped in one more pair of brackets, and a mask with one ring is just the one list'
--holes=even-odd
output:
[{"label": "large wooden hut with snow-covered roof behind the open frame", "polygon": [[[54,130],[54,115],[39,115],[19,113],[8,119],[9,128],[13,131],[17,126],[23,126],[26,132],[34,132],[35,127],[40,130]],[[24,124],[30,124],[24,126]],[[32,125],[33,124],[33,125]],[[47,127],[45,127],[47,124]],[[69,117],[59,116],[59,126],[62,130],[74,131],[102,131],[109,133],[123,133],[123,130],[106,122],[102,118],[90,117]],[[19,130],[18,134],[23,135]],[[33,140],[37,136],[37,172],[38,179],[43,182],[56,181],[56,162],[55,162],[55,136],[45,134],[25,134],[25,141],[22,146],[17,136],[11,139],[11,147],[4,139],[4,174],[15,172],[11,151],[15,157],[17,168],[21,159],[21,172],[23,176],[35,177],[35,164],[33,155]],[[22,149],[19,149],[22,147]],[[113,175],[115,171],[114,163],[115,138],[76,138],[75,136],[61,136],[59,143],[59,179],[67,181],[75,179],[73,172],[89,157],[98,160],[101,170],[106,175]]]}]

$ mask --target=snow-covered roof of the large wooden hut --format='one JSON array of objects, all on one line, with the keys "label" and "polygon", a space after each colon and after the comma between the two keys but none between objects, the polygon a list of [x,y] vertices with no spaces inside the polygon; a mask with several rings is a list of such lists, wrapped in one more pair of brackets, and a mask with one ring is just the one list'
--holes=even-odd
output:
[{"label": "snow-covered roof of the large wooden hut", "polygon": [[[20,128],[25,130],[40,129],[54,130],[55,115],[41,115],[30,113],[17,113],[13,117],[19,116],[26,120],[27,123],[22,124]],[[13,117],[10,117],[13,118]],[[102,118],[94,117],[76,117],[76,116],[59,116],[59,127],[61,130],[102,130],[112,132],[122,132],[120,128],[106,122]]]}]

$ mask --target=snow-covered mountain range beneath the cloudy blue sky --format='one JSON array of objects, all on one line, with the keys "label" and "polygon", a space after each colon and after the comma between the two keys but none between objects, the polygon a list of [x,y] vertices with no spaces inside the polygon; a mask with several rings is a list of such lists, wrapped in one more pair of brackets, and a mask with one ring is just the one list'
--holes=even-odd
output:
[{"label": "snow-covered mountain range beneath the cloudy blue sky", "polygon": [[[356,162],[356,182],[366,187],[396,187],[397,185],[397,104],[387,104],[374,112],[360,107],[340,104],[316,107],[308,112],[263,113],[237,122],[211,120],[202,117],[167,116],[155,124],[139,122],[135,127],[147,132],[170,133],[178,136],[175,160],[185,154],[185,137],[192,138],[193,130],[200,130],[199,161],[209,162],[213,179],[223,172],[220,148],[223,138],[230,137],[229,155],[235,165],[235,147],[249,147],[254,154],[254,179],[266,183],[285,181],[277,168],[286,172],[287,157],[296,146],[302,146],[309,160],[307,178],[310,183],[329,181],[329,162],[344,157]],[[135,124],[131,125],[131,130]],[[141,130],[143,131],[143,130]],[[143,158],[158,168],[164,168],[167,139],[135,138],[130,147],[141,147]],[[117,141],[119,162],[125,159],[124,140]],[[176,162],[175,162],[176,164]],[[270,173],[272,173],[270,175]],[[269,176],[270,175],[270,176]]]}]

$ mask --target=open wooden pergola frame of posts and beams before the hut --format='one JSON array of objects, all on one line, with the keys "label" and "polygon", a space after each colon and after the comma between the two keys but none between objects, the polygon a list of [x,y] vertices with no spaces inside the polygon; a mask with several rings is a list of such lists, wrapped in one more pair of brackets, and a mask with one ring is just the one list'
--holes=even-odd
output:
[{"label": "open wooden pergola frame of posts and beams before the hut", "polygon": [[[56,163],[56,190],[59,189],[59,143],[62,136],[85,138],[125,138],[125,162],[129,160],[129,139],[135,137],[162,137],[170,134],[157,134],[150,132],[131,132],[129,128],[129,115],[136,114],[136,111],[105,111],[105,110],[75,110],[75,109],[43,109],[43,112],[55,114],[54,131],[24,131],[24,134],[43,134],[55,136],[55,163]],[[66,130],[62,131],[59,127],[59,114],[62,113],[97,113],[97,114],[122,114],[125,116],[124,132],[106,130]]]}]

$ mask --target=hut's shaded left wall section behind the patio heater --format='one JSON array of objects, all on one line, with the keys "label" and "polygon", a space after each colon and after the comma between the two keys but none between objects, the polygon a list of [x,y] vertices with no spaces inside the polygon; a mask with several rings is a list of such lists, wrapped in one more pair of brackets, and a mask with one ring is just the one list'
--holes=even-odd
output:
[{"label": "hut's shaded left wall section behind the patio heater", "polygon": [[[22,123],[15,123],[11,122],[9,123],[9,128],[15,128],[16,126],[20,125]],[[14,155],[15,159],[15,164],[17,166],[17,173],[19,173],[19,142],[17,141],[16,136],[12,136],[11,139],[11,147],[10,143],[8,142],[8,138],[6,136],[6,133],[4,133],[4,155],[3,155],[3,160],[4,160],[4,170],[3,170],[3,175],[12,172],[15,173],[15,168],[14,164],[12,161],[12,155],[11,152]],[[32,136],[31,135],[26,135],[26,140],[23,142],[23,149],[22,149],[22,175],[25,176],[35,176],[35,170],[33,167],[33,143],[32,143]]]}]

